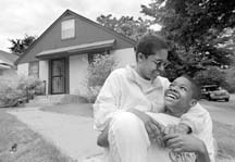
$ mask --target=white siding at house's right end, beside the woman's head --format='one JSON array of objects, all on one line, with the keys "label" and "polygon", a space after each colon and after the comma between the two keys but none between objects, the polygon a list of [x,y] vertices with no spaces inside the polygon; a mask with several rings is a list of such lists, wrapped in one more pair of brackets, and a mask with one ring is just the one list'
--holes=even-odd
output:
[{"label": "white siding at house's right end, beside the woman's head", "polygon": [[133,48],[114,50],[111,51],[111,54],[115,57],[115,61],[119,63],[118,67],[123,67],[127,64],[136,64],[135,51]]}]

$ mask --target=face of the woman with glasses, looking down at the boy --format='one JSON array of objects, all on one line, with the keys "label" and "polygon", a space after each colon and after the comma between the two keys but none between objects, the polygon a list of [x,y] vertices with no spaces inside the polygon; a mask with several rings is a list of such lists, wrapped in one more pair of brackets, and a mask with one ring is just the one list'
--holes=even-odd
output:
[{"label": "face of the woman with glasses, looking down at the boy", "polygon": [[168,62],[168,50],[162,49],[154,52],[154,54],[145,57],[143,53],[138,54],[138,72],[145,79],[153,80],[161,75]]}]

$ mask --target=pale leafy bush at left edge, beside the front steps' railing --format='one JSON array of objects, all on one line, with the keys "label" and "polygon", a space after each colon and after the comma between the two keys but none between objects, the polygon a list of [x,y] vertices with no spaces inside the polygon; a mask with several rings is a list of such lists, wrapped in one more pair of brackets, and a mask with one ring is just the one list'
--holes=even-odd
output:
[{"label": "pale leafy bush at left edge, beside the front steps' railing", "polygon": [[41,82],[36,78],[0,78],[0,105],[12,107],[17,104],[20,99],[27,97],[27,90],[29,96],[33,97],[35,89]]}]

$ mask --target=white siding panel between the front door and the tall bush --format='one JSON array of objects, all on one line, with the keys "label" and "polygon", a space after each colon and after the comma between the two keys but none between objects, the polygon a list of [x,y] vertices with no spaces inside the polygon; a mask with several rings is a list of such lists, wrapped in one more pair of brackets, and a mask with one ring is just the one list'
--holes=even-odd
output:
[{"label": "white siding panel between the front door and the tall bush", "polygon": [[70,94],[86,95],[87,54],[70,57]]}]

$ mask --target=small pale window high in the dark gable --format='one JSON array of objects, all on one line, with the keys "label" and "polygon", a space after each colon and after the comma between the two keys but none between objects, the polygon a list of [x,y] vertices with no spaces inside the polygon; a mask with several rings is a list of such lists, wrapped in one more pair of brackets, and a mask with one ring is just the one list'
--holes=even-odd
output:
[{"label": "small pale window high in the dark gable", "polygon": [[67,20],[61,23],[61,39],[75,37],[75,20]]}]

